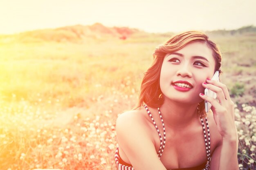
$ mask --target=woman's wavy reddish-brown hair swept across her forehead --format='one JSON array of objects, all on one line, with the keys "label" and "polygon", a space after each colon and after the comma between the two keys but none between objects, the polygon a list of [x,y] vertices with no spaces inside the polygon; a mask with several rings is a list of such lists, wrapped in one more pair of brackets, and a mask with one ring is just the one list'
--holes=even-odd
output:
[{"label": "woman's wavy reddish-brown hair swept across her forehead", "polygon": [[[207,46],[212,50],[212,55],[216,61],[215,71],[219,71],[221,67],[221,53],[218,46],[209,40],[209,37],[200,31],[187,31],[173,35],[162,45],[159,45],[153,53],[154,61],[148,70],[144,73],[144,77],[141,82],[141,89],[139,93],[139,101],[134,109],[140,108],[144,104],[157,108],[162,106],[164,102],[163,93],[160,89],[159,79],[162,68],[164,57],[167,53],[178,51],[182,49],[186,44],[191,42],[202,42],[206,43]],[[204,111],[204,101],[198,104],[199,116],[203,117],[206,115]]]}]

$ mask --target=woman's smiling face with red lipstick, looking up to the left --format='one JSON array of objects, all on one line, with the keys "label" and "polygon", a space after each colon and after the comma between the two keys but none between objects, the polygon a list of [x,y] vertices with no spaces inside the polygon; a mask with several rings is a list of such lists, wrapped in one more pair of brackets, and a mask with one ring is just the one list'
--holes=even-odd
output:
[{"label": "woman's smiling face with red lipstick, looking up to the left", "polygon": [[168,53],[160,74],[164,97],[183,103],[199,103],[204,93],[202,83],[214,74],[215,60],[211,49],[202,42],[192,42],[182,49]]}]

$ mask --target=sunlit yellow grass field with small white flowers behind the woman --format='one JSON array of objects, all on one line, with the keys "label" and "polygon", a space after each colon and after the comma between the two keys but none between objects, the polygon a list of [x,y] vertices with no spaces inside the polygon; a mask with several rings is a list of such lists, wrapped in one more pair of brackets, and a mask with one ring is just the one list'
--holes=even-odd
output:
[{"label": "sunlit yellow grass field with small white flowers behind the woman", "polygon": [[[0,41],[0,169],[117,170],[115,121],[137,103],[153,51],[169,35]],[[209,35],[236,103],[240,169],[255,169],[256,33]]]}]

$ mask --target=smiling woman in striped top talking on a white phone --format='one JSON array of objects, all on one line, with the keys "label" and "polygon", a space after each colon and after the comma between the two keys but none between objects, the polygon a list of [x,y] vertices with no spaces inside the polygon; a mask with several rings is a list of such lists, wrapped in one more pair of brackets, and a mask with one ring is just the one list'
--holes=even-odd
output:
[{"label": "smiling woman in striped top talking on a white phone", "polygon": [[[137,107],[116,122],[119,170],[239,169],[234,103],[224,84],[210,80],[220,66],[218,47],[202,32],[174,35],[155,49]],[[204,101],[212,105],[207,114]]]}]

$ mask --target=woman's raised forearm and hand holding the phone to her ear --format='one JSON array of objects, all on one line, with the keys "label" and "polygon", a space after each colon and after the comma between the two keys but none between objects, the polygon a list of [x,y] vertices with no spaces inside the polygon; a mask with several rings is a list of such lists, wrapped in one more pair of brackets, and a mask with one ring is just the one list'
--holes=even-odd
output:
[{"label": "woman's raised forearm and hand holding the phone to her ear", "polygon": [[234,103],[231,101],[227,87],[215,80],[207,79],[209,88],[217,94],[217,99],[200,94],[200,97],[212,104],[213,118],[222,136],[222,143],[212,156],[211,170],[239,170],[238,167],[238,135],[234,119]]}]

